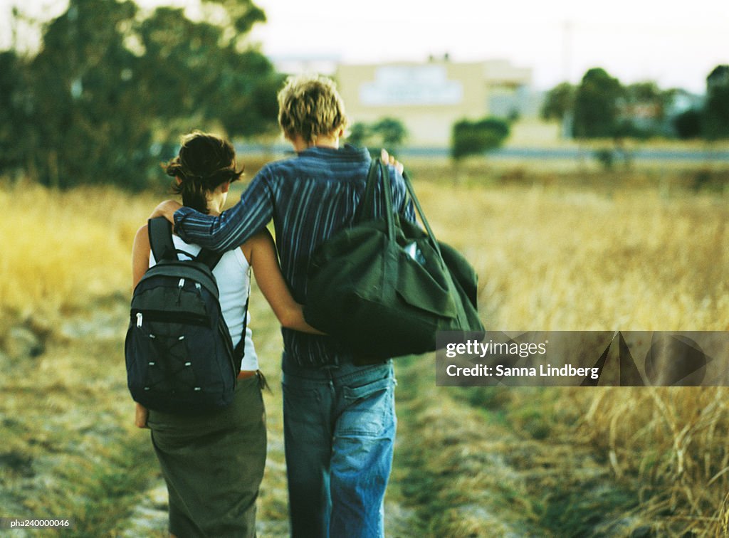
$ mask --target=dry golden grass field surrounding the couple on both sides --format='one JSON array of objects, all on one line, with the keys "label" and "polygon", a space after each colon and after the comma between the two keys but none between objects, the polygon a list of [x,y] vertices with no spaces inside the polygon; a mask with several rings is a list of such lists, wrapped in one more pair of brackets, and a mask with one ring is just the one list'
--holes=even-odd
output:
[{"label": "dry golden grass field surrounding the couple on both sides", "polygon": [[[725,169],[454,174],[423,161],[412,176],[439,239],[477,269],[489,330],[729,330]],[[157,198],[2,184],[0,517],[165,536],[122,358],[132,238]],[[281,339],[260,294],[252,328],[273,386],[259,534],[286,536]],[[727,389],[439,388],[432,364],[396,364],[389,536],[726,531]]]}]

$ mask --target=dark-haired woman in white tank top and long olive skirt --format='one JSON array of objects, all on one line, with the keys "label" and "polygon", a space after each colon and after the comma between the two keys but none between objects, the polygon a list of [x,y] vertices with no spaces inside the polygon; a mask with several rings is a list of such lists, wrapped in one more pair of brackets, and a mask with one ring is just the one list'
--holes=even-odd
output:
[{"label": "dark-haired woman in white tank top and long olive skirt", "polygon": [[[235,151],[217,136],[195,132],[183,139],[179,155],[166,165],[176,179],[175,190],[184,206],[206,214],[222,211],[230,183],[238,179]],[[200,247],[174,236],[176,249],[193,256]],[[134,239],[133,285],[155,264],[147,225]],[[220,292],[223,318],[233,337],[241,339],[243,310],[249,290],[249,268],[284,327],[317,331],[305,323],[301,305],[293,300],[267,230],[239,248],[226,252],[213,270]],[[321,333],[319,333],[321,334]],[[177,537],[254,536],[255,502],[266,455],[264,383],[246,327],[246,353],[230,407],[203,416],[149,413],[139,403],[136,424],[152,430],[152,444],[167,483],[170,533]]]}]

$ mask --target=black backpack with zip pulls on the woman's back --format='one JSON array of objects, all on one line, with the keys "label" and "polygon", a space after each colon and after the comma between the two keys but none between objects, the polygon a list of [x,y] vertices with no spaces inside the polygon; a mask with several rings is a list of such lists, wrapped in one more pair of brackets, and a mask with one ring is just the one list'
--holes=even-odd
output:
[{"label": "black backpack with zip pulls on the woman's back", "polygon": [[[127,385],[133,399],[165,413],[204,413],[233,401],[246,340],[233,349],[212,270],[221,253],[197,257],[174,248],[171,224],[149,220],[157,264],[134,289],[125,340]],[[179,260],[182,253],[190,260]],[[249,294],[250,295],[250,294]]]}]

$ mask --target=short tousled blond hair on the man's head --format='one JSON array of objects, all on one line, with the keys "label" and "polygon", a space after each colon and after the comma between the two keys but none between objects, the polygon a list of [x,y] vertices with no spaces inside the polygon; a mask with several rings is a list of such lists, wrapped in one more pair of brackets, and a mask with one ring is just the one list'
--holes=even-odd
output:
[{"label": "short tousled blond hair on the man's head", "polygon": [[289,139],[307,143],[346,128],[344,101],[334,81],[319,75],[289,77],[278,92],[278,125]]}]

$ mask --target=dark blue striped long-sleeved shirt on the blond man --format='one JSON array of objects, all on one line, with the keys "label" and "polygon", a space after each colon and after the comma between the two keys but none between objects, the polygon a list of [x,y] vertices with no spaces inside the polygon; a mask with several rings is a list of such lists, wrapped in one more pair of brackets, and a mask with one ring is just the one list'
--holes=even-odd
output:
[{"label": "dark blue striped long-sleeved shirt on the blond man", "polygon": [[[281,271],[292,295],[306,301],[306,275],[311,255],[321,243],[354,221],[367,183],[370,154],[346,145],[340,149],[311,147],[297,157],[265,165],[241,195],[219,217],[192,208],[176,211],[176,233],[188,243],[213,250],[230,250],[262,230],[270,219],[276,229]],[[393,205],[415,222],[402,176],[390,167]],[[383,214],[382,184],[375,192],[375,216]],[[331,338],[282,330],[286,356],[300,365],[350,362],[351,356]]]}]

